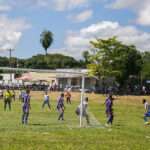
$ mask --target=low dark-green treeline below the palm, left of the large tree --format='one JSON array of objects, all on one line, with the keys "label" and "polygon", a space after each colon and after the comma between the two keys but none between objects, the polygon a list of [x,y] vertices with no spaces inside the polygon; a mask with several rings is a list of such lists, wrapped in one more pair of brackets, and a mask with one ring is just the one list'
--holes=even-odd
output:
[{"label": "low dark-green treeline below the palm, left of the large tree", "polygon": [[56,69],[56,68],[85,68],[86,64],[82,60],[62,54],[38,54],[28,59],[12,57],[0,57],[1,67],[18,67],[32,69]]}]

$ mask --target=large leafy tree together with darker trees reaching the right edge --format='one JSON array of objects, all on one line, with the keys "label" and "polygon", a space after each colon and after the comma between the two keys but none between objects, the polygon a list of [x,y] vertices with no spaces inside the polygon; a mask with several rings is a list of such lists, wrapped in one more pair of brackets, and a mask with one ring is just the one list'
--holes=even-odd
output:
[{"label": "large leafy tree together with darker trees reaching the right edge", "polygon": [[90,43],[92,49],[85,51],[83,56],[92,75],[102,80],[113,77],[121,87],[143,85],[150,80],[149,51],[141,52],[116,37]]}]

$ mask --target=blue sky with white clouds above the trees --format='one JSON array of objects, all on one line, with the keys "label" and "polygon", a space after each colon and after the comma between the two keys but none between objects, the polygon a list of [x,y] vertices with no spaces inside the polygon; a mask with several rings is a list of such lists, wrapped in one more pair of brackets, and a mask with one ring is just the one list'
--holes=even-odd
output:
[{"label": "blue sky with white clouds above the trees", "polygon": [[117,36],[140,51],[150,50],[150,0],[0,0],[0,56],[44,54],[40,34],[50,30],[48,53],[76,59],[89,41]]}]

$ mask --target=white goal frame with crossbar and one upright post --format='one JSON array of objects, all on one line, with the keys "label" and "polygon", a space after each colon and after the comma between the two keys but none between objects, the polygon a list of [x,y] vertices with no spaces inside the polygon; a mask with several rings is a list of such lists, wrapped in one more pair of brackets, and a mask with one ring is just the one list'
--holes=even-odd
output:
[{"label": "white goal frame with crossbar and one upright post", "polygon": [[0,67],[0,70],[5,70],[5,71],[20,71],[20,72],[37,72],[37,73],[56,73],[56,74],[61,74],[65,75],[67,74],[72,74],[75,75],[76,77],[81,77],[82,82],[81,82],[81,99],[80,99],[80,127],[82,127],[82,113],[83,113],[83,101],[84,101],[84,93],[85,93],[85,77],[88,75],[88,72],[82,72],[81,70],[79,71],[64,71],[64,70],[50,70],[50,69],[28,69],[28,68],[10,68],[10,67]]}]

